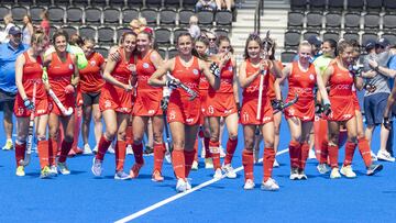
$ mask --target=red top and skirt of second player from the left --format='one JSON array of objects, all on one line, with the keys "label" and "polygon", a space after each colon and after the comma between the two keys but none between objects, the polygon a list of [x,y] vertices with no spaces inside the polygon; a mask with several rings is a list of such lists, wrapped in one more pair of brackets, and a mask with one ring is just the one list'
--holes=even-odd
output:
[{"label": "red top and skirt of second player from the left", "polygon": [[[74,93],[66,93],[66,86],[72,83],[72,77],[75,71],[75,65],[72,60],[69,53],[66,54],[66,60],[62,62],[56,52],[52,53],[52,62],[48,66],[48,81],[52,90],[59,99],[62,104],[68,108],[75,108],[76,97]],[[56,105],[53,99],[50,97],[50,111],[57,115],[63,115],[61,109]]]}]

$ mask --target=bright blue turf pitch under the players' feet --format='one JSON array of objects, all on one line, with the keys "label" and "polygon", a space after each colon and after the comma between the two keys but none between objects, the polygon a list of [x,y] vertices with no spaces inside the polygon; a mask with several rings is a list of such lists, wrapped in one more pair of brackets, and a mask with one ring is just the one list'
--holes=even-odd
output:
[{"label": "bright blue turf pitch under the players' feet", "polygon": [[[2,114],[0,114],[2,120]],[[3,132],[2,126],[0,131]],[[373,137],[377,150],[378,131]],[[233,166],[241,166],[243,135],[240,129],[239,146]],[[0,145],[4,143],[0,138]],[[288,129],[283,122],[279,150],[287,147]],[[94,147],[94,138],[90,137]],[[226,143],[226,138],[224,138]],[[80,142],[81,145],[81,142]],[[199,149],[200,150],[200,149]],[[343,149],[340,150],[340,161]],[[256,188],[243,190],[243,171],[237,179],[222,179],[206,188],[177,199],[140,218],[136,222],[385,222],[395,219],[395,164],[382,163],[384,170],[366,177],[363,160],[355,152],[353,168],[358,178],[330,180],[316,170],[317,161],[307,165],[308,180],[290,181],[288,153],[277,157],[280,167],[274,178],[280,186],[277,192],[260,190],[262,166],[254,169]],[[16,177],[14,152],[0,152],[0,221],[1,222],[114,222],[158,201],[175,196],[172,166],[164,163],[165,181],[151,181],[153,157],[145,157],[139,179],[116,181],[114,156],[107,154],[105,177],[90,172],[92,156],[68,159],[70,176],[38,179],[38,159],[33,156],[25,177]],[[129,155],[125,169],[133,164]],[[211,179],[212,170],[193,171],[193,186]]]}]

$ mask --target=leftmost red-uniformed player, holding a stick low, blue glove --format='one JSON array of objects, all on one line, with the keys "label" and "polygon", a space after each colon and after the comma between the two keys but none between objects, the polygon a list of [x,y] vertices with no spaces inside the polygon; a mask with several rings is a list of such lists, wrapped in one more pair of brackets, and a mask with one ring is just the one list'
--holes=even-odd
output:
[{"label": "leftmost red-uniformed player, holding a stick low, blue glove", "polygon": [[15,142],[16,176],[24,176],[24,167],[20,161],[25,159],[31,112],[34,112],[36,123],[35,135],[38,141],[40,177],[46,178],[50,176],[48,141],[46,140],[48,99],[42,81],[43,53],[48,43],[48,38],[43,32],[33,33],[31,48],[20,55],[15,63],[15,83],[18,88],[14,105],[18,134]]}]

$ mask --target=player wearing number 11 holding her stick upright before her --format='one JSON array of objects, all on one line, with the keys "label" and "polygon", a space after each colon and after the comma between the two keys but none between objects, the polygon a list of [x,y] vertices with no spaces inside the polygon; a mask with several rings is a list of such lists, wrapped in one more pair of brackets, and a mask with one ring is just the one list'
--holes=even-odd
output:
[{"label": "player wearing number 11 holding her stick upright before her", "polygon": [[[262,42],[258,35],[251,34],[245,44],[245,60],[241,64],[239,69],[239,81],[243,88],[243,101],[241,108],[241,124],[243,125],[244,150],[242,153],[242,163],[244,168],[244,189],[254,188],[253,178],[253,142],[255,129],[258,125],[264,136],[264,177],[262,181],[262,189],[278,190],[279,187],[272,178],[272,169],[275,159],[274,150],[274,118],[273,109],[270,99],[266,94],[270,81],[270,75],[280,77],[280,73],[276,71],[272,60],[262,59],[261,52],[263,51]],[[266,74],[268,73],[268,74]],[[257,116],[258,91],[260,91],[260,75],[266,74],[263,78],[262,107],[260,108],[261,116]]]}]

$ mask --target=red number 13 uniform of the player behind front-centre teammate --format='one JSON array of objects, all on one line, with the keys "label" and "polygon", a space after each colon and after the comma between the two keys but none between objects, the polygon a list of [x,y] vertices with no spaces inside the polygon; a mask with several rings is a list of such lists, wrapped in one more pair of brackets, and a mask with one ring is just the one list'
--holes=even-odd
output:
[{"label": "red number 13 uniform of the player behind front-centre teammate", "polygon": [[232,88],[233,74],[233,64],[229,59],[220,71],[219,90],[209,87],[205,116],[228,116],[238,112]]}]

